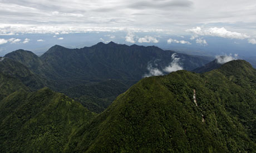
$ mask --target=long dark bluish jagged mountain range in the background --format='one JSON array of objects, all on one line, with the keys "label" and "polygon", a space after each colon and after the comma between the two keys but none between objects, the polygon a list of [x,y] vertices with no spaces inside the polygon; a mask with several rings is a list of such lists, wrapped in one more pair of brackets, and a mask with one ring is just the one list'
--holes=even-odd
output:
[{"label": "long dark bluish jagged mountain range in the background", "polygon": [[[110,42],[81,49],[55,45],[41,57],[26,50],[16,50],[5,57],[22,63],[32,72],[45,75],[48,79],[92,82],[105,79],[140,80],[148,73],[150,63],[163,69],[173,61],[171,55],[174,53],[155,46],[128,46]],[[186,70],[200,67],[210,60],[208,57],[176,54]]]}]

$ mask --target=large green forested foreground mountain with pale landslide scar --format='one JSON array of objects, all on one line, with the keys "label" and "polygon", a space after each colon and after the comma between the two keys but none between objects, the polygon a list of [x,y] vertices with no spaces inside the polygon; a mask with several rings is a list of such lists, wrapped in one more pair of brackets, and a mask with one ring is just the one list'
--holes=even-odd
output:
[{"label": "large green forested foreground mountain with pale landslide scar", "polygon": [[256,152],[255,85],[244,60],[144,78],[76,131],[66,152]]}]

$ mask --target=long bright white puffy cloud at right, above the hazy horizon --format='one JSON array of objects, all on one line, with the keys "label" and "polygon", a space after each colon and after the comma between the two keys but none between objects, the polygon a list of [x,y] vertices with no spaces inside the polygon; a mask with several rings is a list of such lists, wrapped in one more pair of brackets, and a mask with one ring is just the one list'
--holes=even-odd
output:
[{"label": "long bright white puffy cloud at right, above the hazy horizon", "polygon": [[190,39],[195,39],[198,37],[198,35],[210,35],[214,37],[222,37],[222,38],[231,38],[231,39],[246,39],[250,38],[249,35],[243,34],[243,33],[238,33],[238,32],[230,32],[224,27],[222,28],[209,28],[209,29],[202,29],[200,27],[196,27],[193,29],[187,29],[186,32],[194,34],[193,37]]}]

